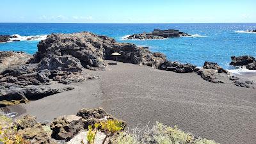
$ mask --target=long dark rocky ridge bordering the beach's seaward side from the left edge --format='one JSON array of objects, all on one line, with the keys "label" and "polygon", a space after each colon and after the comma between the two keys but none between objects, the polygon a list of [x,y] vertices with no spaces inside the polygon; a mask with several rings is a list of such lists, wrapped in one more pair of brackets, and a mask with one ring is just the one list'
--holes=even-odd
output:
[{"label": "long dark rocky ridge bordering the beach's seaward side from the left edge", "polygon": [[113,52],[121,54],[117,58],[120,62],[177,73],[196,72],[211,83],[234,83],[236,86],[253,88],[252,81],[232,76],[217,63],[205,61],[203,68],[196,68],[189,63],[167,61],[162,53],[150,52],[134,44],[118,43],[107,36],[88,32],[52,34],[39,42],[38,52],[26,64],[19,63],[1,72],[0,106],[29,102],[74,89],[71,86],[52,88],[54,83],[70,84],[97,79],[99,76],[90,74],[90,70],[106,69],[104,60],[113,60]]}]

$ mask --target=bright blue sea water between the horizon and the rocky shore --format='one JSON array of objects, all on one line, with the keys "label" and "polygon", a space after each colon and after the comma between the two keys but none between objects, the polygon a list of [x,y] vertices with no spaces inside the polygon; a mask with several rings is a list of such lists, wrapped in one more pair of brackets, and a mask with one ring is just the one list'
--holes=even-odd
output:
[{"label": "bright blue sea water between the horizon and the rocky shore", "polygon": [[[193,36],[164,40],[125,40],[124,36],[153,29],[179,29]],[[148,46],[150,51],[163,52],[171,61],[193,63],[202,67],[204,61],[217,62],[224,68],[230,56],[244,54],[256,57],[256,33],[245,33],[256,29],[256,24],[40,24],[0,23],[0,35],[35,36],[51,33],[74,33],[91,31],[98,35],[115,38],[118,42],[131,42]],[[0,51],[25,51],[34,54],[39,40],[8,42],[0,44]]]}]

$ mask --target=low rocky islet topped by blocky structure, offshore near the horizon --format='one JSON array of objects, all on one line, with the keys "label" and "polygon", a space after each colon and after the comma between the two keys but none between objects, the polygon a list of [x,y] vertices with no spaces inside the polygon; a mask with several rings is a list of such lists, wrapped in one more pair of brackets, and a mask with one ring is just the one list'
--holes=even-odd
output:
[{"label": "low rocky islet topped by blocky structure, offshore near the horizon", "polygon": [[177,37],[177,36],[190,36],[188,33],[183,33],[182,31],[175,29],[154,29],[151,33],[140,33],[134,34],[128,37],[128,39],[141,39],[141,40],[150,40],[150,39],[163,39],[169,37]]}]

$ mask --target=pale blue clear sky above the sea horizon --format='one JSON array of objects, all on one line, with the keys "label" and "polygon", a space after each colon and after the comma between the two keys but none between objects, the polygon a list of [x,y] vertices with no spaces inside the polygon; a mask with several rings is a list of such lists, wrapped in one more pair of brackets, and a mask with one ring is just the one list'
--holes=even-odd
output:
[{"label": "pale blue clear sky above the sea horizon", "polygon": [[0,0],[0,22],[256,22],[256,0]]}]

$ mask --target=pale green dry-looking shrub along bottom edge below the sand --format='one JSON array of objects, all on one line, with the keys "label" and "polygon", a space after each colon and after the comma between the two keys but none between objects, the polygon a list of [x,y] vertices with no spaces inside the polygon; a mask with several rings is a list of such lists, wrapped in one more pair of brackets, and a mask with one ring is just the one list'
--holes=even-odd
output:
[{"label": "pale green dry-looking shrub along bottom edge below the sand", "polygon": [[[136,133],[137,132],[137,133]],[[122,132],[113,138],[113,144],[217,144],[211,140],[195,138],[191,133],[178,129],[177,126],[169,127],[159,122],[152,129],[145,128],[143,131]]]}]

